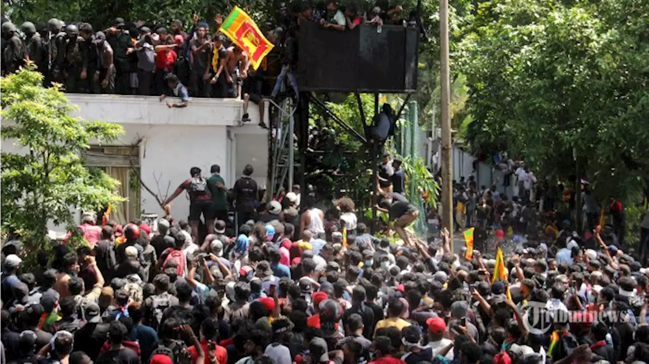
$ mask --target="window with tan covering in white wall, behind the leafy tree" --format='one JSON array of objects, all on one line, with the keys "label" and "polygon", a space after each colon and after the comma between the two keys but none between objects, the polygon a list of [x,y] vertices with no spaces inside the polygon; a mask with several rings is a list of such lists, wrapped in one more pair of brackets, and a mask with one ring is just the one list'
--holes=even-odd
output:
[{"label": "window with tan covering in white wall, behind the leafy tree", "polygon": [[126,200],[113,206],[111,220],[120,224],[140,217],[140,147],[92,146],[81,152],[86,167],[99,168],[119,181]]}]

